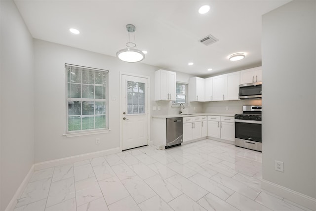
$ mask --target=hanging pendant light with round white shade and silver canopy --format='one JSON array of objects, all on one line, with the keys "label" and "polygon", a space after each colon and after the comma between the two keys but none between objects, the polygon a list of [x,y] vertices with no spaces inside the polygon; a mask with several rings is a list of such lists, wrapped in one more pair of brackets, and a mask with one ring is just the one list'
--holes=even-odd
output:
[{"label": "hanging pendant light with round white shade and silver canopy", "polygon": [[[135,30],[136,27],[133,24],[127,24],[126,30],[128,32],[128,38],[126,42],[126,48],[118,50],[117,57],[124,62],[140,62],[145,59],[145,54],[136,48],[135,43]],[[130,34],[134,35],[134,42],[130,41]]]}]

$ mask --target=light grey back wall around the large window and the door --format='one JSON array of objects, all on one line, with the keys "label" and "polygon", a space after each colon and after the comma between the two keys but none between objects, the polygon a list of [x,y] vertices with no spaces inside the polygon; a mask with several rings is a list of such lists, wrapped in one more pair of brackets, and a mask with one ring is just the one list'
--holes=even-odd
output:
[{"label": "light grey back wall around the large window and the door", "polygon": [[[151,104],[156,103],[154,72],[160,69],[158,67],[126,63],[116,57],[41,40],[34,43],[35,163],[119,147],[119,72],[149,76]],[[109,70],[109,133],[71,138],[63,136],[66,130],[65,63]],[[182,77],[189,80],[189,76]],[[113,96],[118,100],[113,101]],[[168,109],[168,103],[161,104],[161,111]],[[100,138],[98,145],[95,144],[96,138]]]}]

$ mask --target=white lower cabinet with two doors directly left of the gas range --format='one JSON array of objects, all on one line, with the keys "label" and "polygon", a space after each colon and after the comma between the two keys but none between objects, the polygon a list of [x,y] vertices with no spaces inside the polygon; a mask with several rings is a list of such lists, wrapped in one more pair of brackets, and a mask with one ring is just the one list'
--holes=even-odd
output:
[{"label": "white lower cabinet with two doors directly left of the gas range", "polygon": [[235,118],[207,116],[207,136],[235,141]]}]

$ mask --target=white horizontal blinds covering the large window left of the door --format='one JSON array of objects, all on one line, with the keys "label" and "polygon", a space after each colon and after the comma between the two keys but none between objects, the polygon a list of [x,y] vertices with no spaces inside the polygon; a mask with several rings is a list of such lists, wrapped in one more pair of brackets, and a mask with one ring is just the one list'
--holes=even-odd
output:
[{"label": "white horizontal blinds covering the large window left of the door", "polygon": [[66,132],[108,129],[108,71],[65,64]]}]

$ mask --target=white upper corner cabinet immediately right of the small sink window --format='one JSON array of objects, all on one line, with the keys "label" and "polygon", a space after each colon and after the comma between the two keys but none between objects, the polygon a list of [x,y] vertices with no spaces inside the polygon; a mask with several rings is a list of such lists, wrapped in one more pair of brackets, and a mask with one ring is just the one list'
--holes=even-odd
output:
[{"label": "white upper corner cabinet immediately right of the small sink window", "polygon": [[193,77],[189,81],[189,101],[205,101],[205,79]]}]

